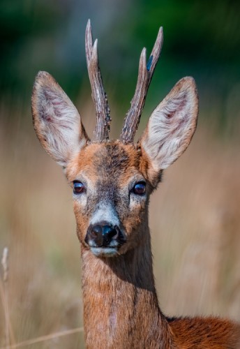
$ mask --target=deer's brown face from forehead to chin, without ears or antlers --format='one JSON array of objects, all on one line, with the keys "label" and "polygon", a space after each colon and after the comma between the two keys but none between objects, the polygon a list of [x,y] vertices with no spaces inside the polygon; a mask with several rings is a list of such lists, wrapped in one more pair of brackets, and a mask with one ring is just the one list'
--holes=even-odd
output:
[{"label": "deer's brown face from forehead to chin, without ears or antlers", "polygon": [[119,141],[89,144],[66,168],[73,187],[77,235],[95,255],[139,244],[152,186],[141,149]]}]

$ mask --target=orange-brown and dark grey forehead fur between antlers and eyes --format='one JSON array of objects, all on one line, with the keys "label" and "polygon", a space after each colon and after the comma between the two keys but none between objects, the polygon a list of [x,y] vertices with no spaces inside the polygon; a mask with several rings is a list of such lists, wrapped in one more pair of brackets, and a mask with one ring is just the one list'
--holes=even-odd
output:
[{"label": "orange-brown and dark grey forehead fur between antlers and eyes", "polygon": [[108,176],[120,174],[127,180],[139,171],[147,179],[147,158],[137,144],[123,144],[120,140],[90,143],[84,147],[66,168],[69,181],[84,172],[91,179],[98,179],[107,172]]}]

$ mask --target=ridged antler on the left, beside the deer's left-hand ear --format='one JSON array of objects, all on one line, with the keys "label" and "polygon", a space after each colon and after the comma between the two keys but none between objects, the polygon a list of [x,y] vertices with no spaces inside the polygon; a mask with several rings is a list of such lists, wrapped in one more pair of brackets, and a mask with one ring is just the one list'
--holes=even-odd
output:
[{"label": "ridged antler on the left, beside the deer's left-hand ear", "polygon": [[107,94],[103,88],[103,81],[98,64],[98,39],[96,39],[93,44],[90,20],[87,22],[85,49],[89,80],[91,83],[91,96],[96,108],[96,127],[93,133],[93,140],[107,140],[111,122],[110,107],[107,103]]}]

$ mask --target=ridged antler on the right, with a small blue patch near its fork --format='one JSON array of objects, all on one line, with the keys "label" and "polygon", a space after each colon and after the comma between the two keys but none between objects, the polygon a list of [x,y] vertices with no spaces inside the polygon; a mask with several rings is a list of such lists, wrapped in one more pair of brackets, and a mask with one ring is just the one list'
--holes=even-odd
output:
[{"label": "ridged antler on the right, with a small blue patch near its fork", "polygon": [[123,129],[121,131],[120,139],[123,142],[133,142],[135,132],[137,131],[137,126],[140,121],[142,110],[145,104],[145,99],[147,96],[147,90],[149,89],[149,84],[151,82],[151,77],[153,76],[154,69],[160,57],[160,52],[163,45],[163,27],[160,27],[158,31],[158,36],[156,42],[151,51],[151,55],[146,64],[146,48],[142,50],[140,56],[140,64],[137,77],[137,87],[135,89],[135,94],[131,101],[130,109],[126,114],[124,119]]}]

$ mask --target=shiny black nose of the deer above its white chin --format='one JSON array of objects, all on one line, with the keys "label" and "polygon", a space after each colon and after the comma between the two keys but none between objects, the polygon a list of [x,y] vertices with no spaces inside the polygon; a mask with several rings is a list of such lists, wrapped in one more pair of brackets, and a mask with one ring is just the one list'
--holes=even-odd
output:
[{"label": "shiny black nose of the deer above its white chin", "polygon": [[110,246],[113,240],[117,242],[120,237],[119,235],[120,230],[116,225],[113,227],[109,223],[103,221],[89,226],[85,242],[87,242],[89,246],[107,247]]}]

